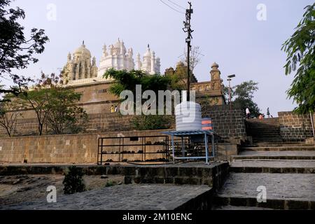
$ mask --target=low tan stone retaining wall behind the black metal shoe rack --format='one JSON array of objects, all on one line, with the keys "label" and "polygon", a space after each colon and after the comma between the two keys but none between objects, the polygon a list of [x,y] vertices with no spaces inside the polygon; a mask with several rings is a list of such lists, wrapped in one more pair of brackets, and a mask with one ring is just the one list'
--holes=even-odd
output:
[{"label": "low tan stone retaining wall behind the black metal shoe rack", "polygon": [[[160,131],[108,132],[106,134],[64,134],[41,137],[13,137],[0,139],[0,162],[9,163],[97,163],[99,137],[162,135]],[[152,141],[147,139],[147,141]],[[154,140],[155,141],[155,140]],[[148,147],[156,151],[158,146]],[[159,148],[160,150],[161,148]],[[126,148],[127,150],[127,148]],[[104,161],[116,155],[104,155]],[[124,155],[129,161],[138,160],[137,154]],[[160,158],[146,155],[147,160]]]}]

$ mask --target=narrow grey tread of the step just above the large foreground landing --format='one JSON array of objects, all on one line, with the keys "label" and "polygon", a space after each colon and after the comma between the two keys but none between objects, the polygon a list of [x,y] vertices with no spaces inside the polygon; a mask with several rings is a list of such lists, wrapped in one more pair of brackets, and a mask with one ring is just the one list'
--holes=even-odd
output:
[{"label": "narrow grey tread of the step just above the large foreground landing", "polygon": [[230,167],[314,168],[315,160],[235,160]]}]

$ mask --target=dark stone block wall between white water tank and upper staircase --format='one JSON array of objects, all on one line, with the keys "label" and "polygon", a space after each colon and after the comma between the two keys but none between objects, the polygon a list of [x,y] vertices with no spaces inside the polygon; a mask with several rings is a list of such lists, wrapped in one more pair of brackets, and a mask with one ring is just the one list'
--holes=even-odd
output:
[{"label": "dark stone block wall between white water tank and upper staircase", "polygon": [[210,106],[205,116],[212,118],[214,131],[222,139],[245,139],[246,129],[243,111],[230,106]]}]

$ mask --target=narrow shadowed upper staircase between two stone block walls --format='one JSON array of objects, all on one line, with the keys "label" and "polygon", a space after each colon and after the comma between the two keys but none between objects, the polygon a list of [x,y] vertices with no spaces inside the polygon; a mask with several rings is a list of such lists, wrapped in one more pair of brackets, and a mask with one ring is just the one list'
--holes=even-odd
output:
[{"label": "narrow shadowed upper staircase between two stone block walls", "polygon": [[246,134],[253,138],[254,143],[282,141],[278,118],[248,119],[246,120]]}]

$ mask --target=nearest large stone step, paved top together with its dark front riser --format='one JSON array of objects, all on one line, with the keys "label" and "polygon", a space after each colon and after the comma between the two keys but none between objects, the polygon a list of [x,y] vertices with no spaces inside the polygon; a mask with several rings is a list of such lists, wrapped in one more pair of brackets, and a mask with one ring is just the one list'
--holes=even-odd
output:
[{"label": "nearest large stone step, paved top together with its dark front riser", "polygon": [[[266,202],[258,202],[265,188]],[[315,174],[230,173],[214,197],[217,206],[315,209]]]}]

